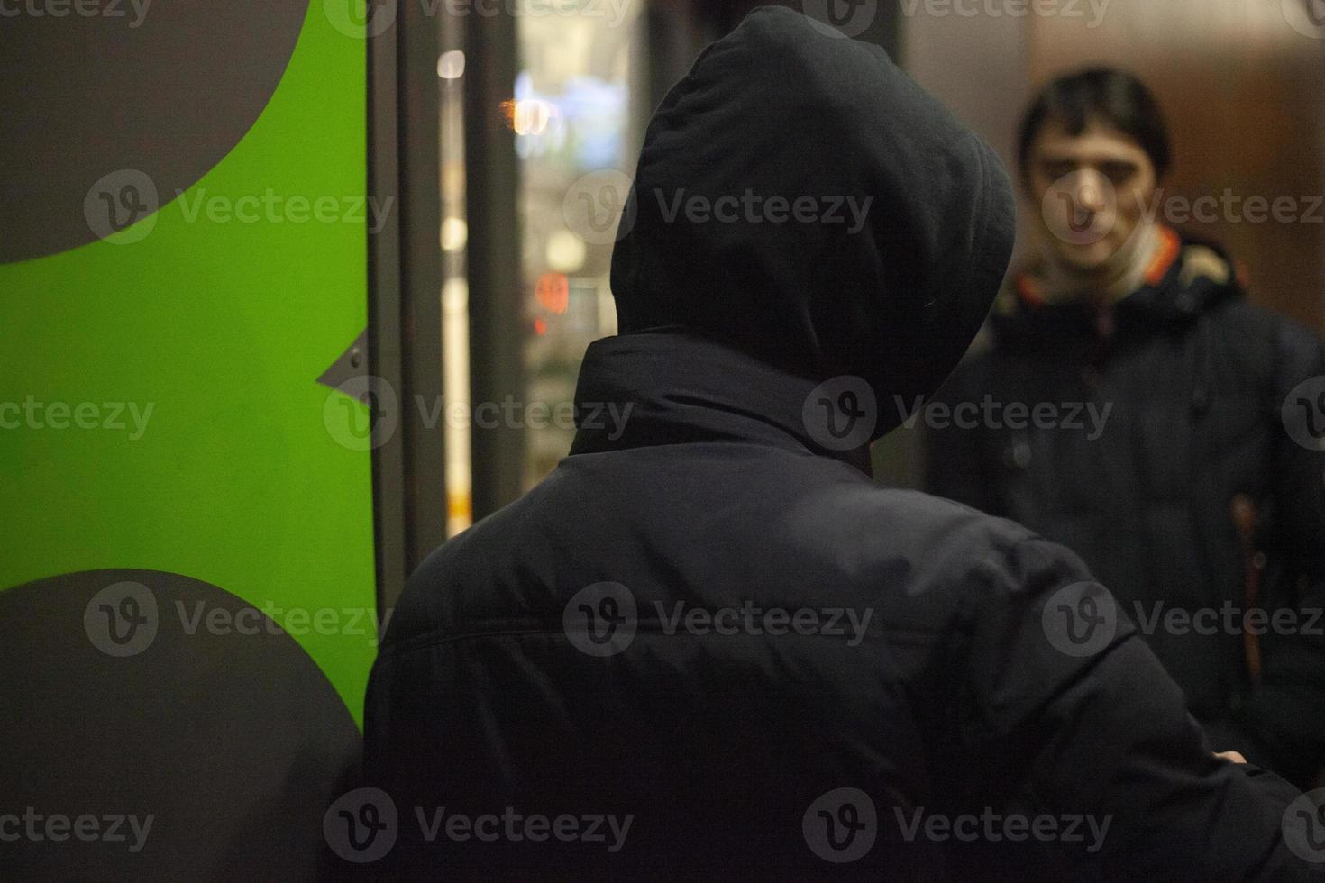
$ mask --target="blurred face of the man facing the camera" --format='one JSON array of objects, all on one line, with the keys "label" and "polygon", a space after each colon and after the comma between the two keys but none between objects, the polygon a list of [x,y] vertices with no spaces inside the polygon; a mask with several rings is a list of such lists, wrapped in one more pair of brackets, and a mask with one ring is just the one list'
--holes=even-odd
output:
[{"label": "blurred face of the man facing the camera", "polygon": [[1049,120],[1031,144],[1027,179],[1045,248],[1086,273],[1109,266],[1150,210],[1157,185],[1141,144],[1094,122],[1071,135]]}]

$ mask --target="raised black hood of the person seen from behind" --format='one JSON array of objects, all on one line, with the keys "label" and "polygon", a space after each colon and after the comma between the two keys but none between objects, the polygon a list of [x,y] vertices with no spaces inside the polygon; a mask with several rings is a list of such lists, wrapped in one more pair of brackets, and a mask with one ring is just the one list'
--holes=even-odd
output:
[{"label": "raised black hood of the person seen from behind", "polygon": [[934,392],[1007,269],[994,151],[878,46],[782,7],[659,106],[612,254],[623,335],[684,328],[888,402]]}]

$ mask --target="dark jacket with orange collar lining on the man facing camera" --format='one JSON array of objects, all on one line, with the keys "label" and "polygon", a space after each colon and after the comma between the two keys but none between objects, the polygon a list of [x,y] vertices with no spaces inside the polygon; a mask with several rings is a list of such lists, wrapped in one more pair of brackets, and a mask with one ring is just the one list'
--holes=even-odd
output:
[{"label": "dark jacket with orange collar lining on the man facing camera", "polygon": [[[941,393],[949,408],[991,398],[995,418],[928,416],[941,426],[929,490],[1079,552],[1220,748],[1310,781],[1325,763],[1325,443],[1306,424],[1325,418],[1325,349],[1248,303],[1220,250],[1169,229],[1150,279],[1112,318],[1045,304],[1036,285],[1014,277],[992,346]],[[1056,417],[1008,428],[1014,402]],[[1238,496],[1259,515],[1251,555],[1265,556],[1265,620],[1249,627]],[[1257,678],[1244,633],[1260,629]]]}]

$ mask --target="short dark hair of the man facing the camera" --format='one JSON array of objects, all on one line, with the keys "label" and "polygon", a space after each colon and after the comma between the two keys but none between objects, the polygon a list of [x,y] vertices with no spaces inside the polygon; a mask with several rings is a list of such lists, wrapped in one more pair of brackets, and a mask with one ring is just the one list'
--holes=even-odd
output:
[{"label": "short dark hair of the man facing the camera", "polygon": [[1134,75],[1113,68],[1088,68],[1057,77],[1036,97],[1022,120],[1018,167],[1030,180],[1031,144],[1048,123],[1057,122],[1069,135],[1080,135],[1100,122],[1136,139],[1155,176],[1163,177],[1173,159],[1169,128],[1154,94]]}]

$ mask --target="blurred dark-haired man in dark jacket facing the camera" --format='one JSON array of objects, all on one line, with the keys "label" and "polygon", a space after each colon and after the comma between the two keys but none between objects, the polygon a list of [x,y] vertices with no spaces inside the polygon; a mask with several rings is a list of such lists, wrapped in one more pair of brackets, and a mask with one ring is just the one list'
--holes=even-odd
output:
[{"label": "blurred dark-haired man in dark jacket facing the camera", "polygon": [[1218,246],[1163,224],[1170,142],[1134,77],[1049,83],[1019,162],[1039,254],[941,393],[954,420],[930,434],[929,490],[1079,552],[1211,740],[1310,785],[1325,351],[1248,303]]}]

